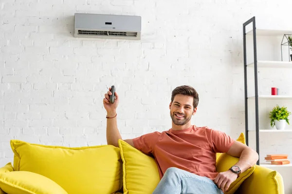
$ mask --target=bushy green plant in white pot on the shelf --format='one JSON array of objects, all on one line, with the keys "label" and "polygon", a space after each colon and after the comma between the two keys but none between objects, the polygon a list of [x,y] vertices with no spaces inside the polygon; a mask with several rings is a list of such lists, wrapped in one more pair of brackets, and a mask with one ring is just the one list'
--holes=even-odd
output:
[{"label": "bushy green plant in white pot on the shelf", "polygon": [[289,124],[288,116],[291,113],[287,110],[287,107],[279,107],[277,105],[273,108],[273,110],[269,113],[269,118],[271,119],[271,127],[276,126],[276,129],[285,129],[286,122]]}]

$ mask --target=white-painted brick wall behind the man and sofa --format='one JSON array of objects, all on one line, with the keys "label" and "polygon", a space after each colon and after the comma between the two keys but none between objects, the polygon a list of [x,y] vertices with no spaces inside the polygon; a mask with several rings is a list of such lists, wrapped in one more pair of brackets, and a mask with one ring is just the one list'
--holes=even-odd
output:
[{"label": "white-painted brick wall behind the man and sofa", "polygon": [[[123,138],[169,129],[171,91],[182,84],[200,95],[194,124],[237,138],[244,131],[242,23],[256,16],[258,28],[291,29],[291,6],[289,0],[1,0],[0,165],[13,161],[11,139],[106,144],[102,99],[112,84]],[[142,40],[74,38],[74,13],[142,16]],[[260,73],[265,81],[271,74]],[[290,75],[277,81],[286,94]],[[271,87],[265,81],[262,93]],[[292,155],[291,147],[278,148]]]}]

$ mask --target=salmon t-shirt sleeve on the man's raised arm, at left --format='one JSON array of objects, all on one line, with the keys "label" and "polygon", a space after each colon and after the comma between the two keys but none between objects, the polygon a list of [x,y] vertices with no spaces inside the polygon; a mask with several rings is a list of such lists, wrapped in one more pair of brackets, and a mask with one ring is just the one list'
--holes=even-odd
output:
[{"label": "salmon t-shirt sleeve on the man's raised arm, at left", "polygon": [[160,132],[155,131],[152,133],[147,133],[140,137],[136,137],[133,140],[134,147],[144,152],[145,154],[150,154],[153,152],[155,143],[160,136]]}]

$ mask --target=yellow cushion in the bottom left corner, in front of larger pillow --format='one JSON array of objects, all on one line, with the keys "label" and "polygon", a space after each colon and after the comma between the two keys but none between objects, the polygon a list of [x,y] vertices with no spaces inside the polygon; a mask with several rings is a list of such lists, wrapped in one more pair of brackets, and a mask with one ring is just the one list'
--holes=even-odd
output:
[{"label": "yellow cushion in the bottom left corner, in front of larger pillow", "polygon": [[0,187],[7,194],[68,194],[53,180],[27,171],[0,173]]}]

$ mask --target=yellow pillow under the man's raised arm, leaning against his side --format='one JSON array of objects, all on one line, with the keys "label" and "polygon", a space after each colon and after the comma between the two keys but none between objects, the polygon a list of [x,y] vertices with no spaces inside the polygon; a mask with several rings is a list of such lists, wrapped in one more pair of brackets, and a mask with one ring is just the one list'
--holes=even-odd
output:
[{"label": "yellow pillow under the man's raised arm, leaning against his side", "polygon": [[123,160],[124,194],[152,194],[160,181],[155,160],[123,140],[118,143]]}]

